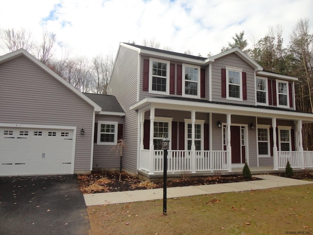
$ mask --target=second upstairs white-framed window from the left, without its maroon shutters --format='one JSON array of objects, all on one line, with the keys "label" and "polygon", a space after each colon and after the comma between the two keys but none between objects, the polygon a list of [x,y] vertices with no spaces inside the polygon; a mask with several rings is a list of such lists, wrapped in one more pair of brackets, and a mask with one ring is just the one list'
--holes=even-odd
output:
[{"label": "second upstairs white-framed window from the left, without its maroon shutters", "polygon": [[182,74],[183,96],[200,98],[200,67],[183,64]]}]

